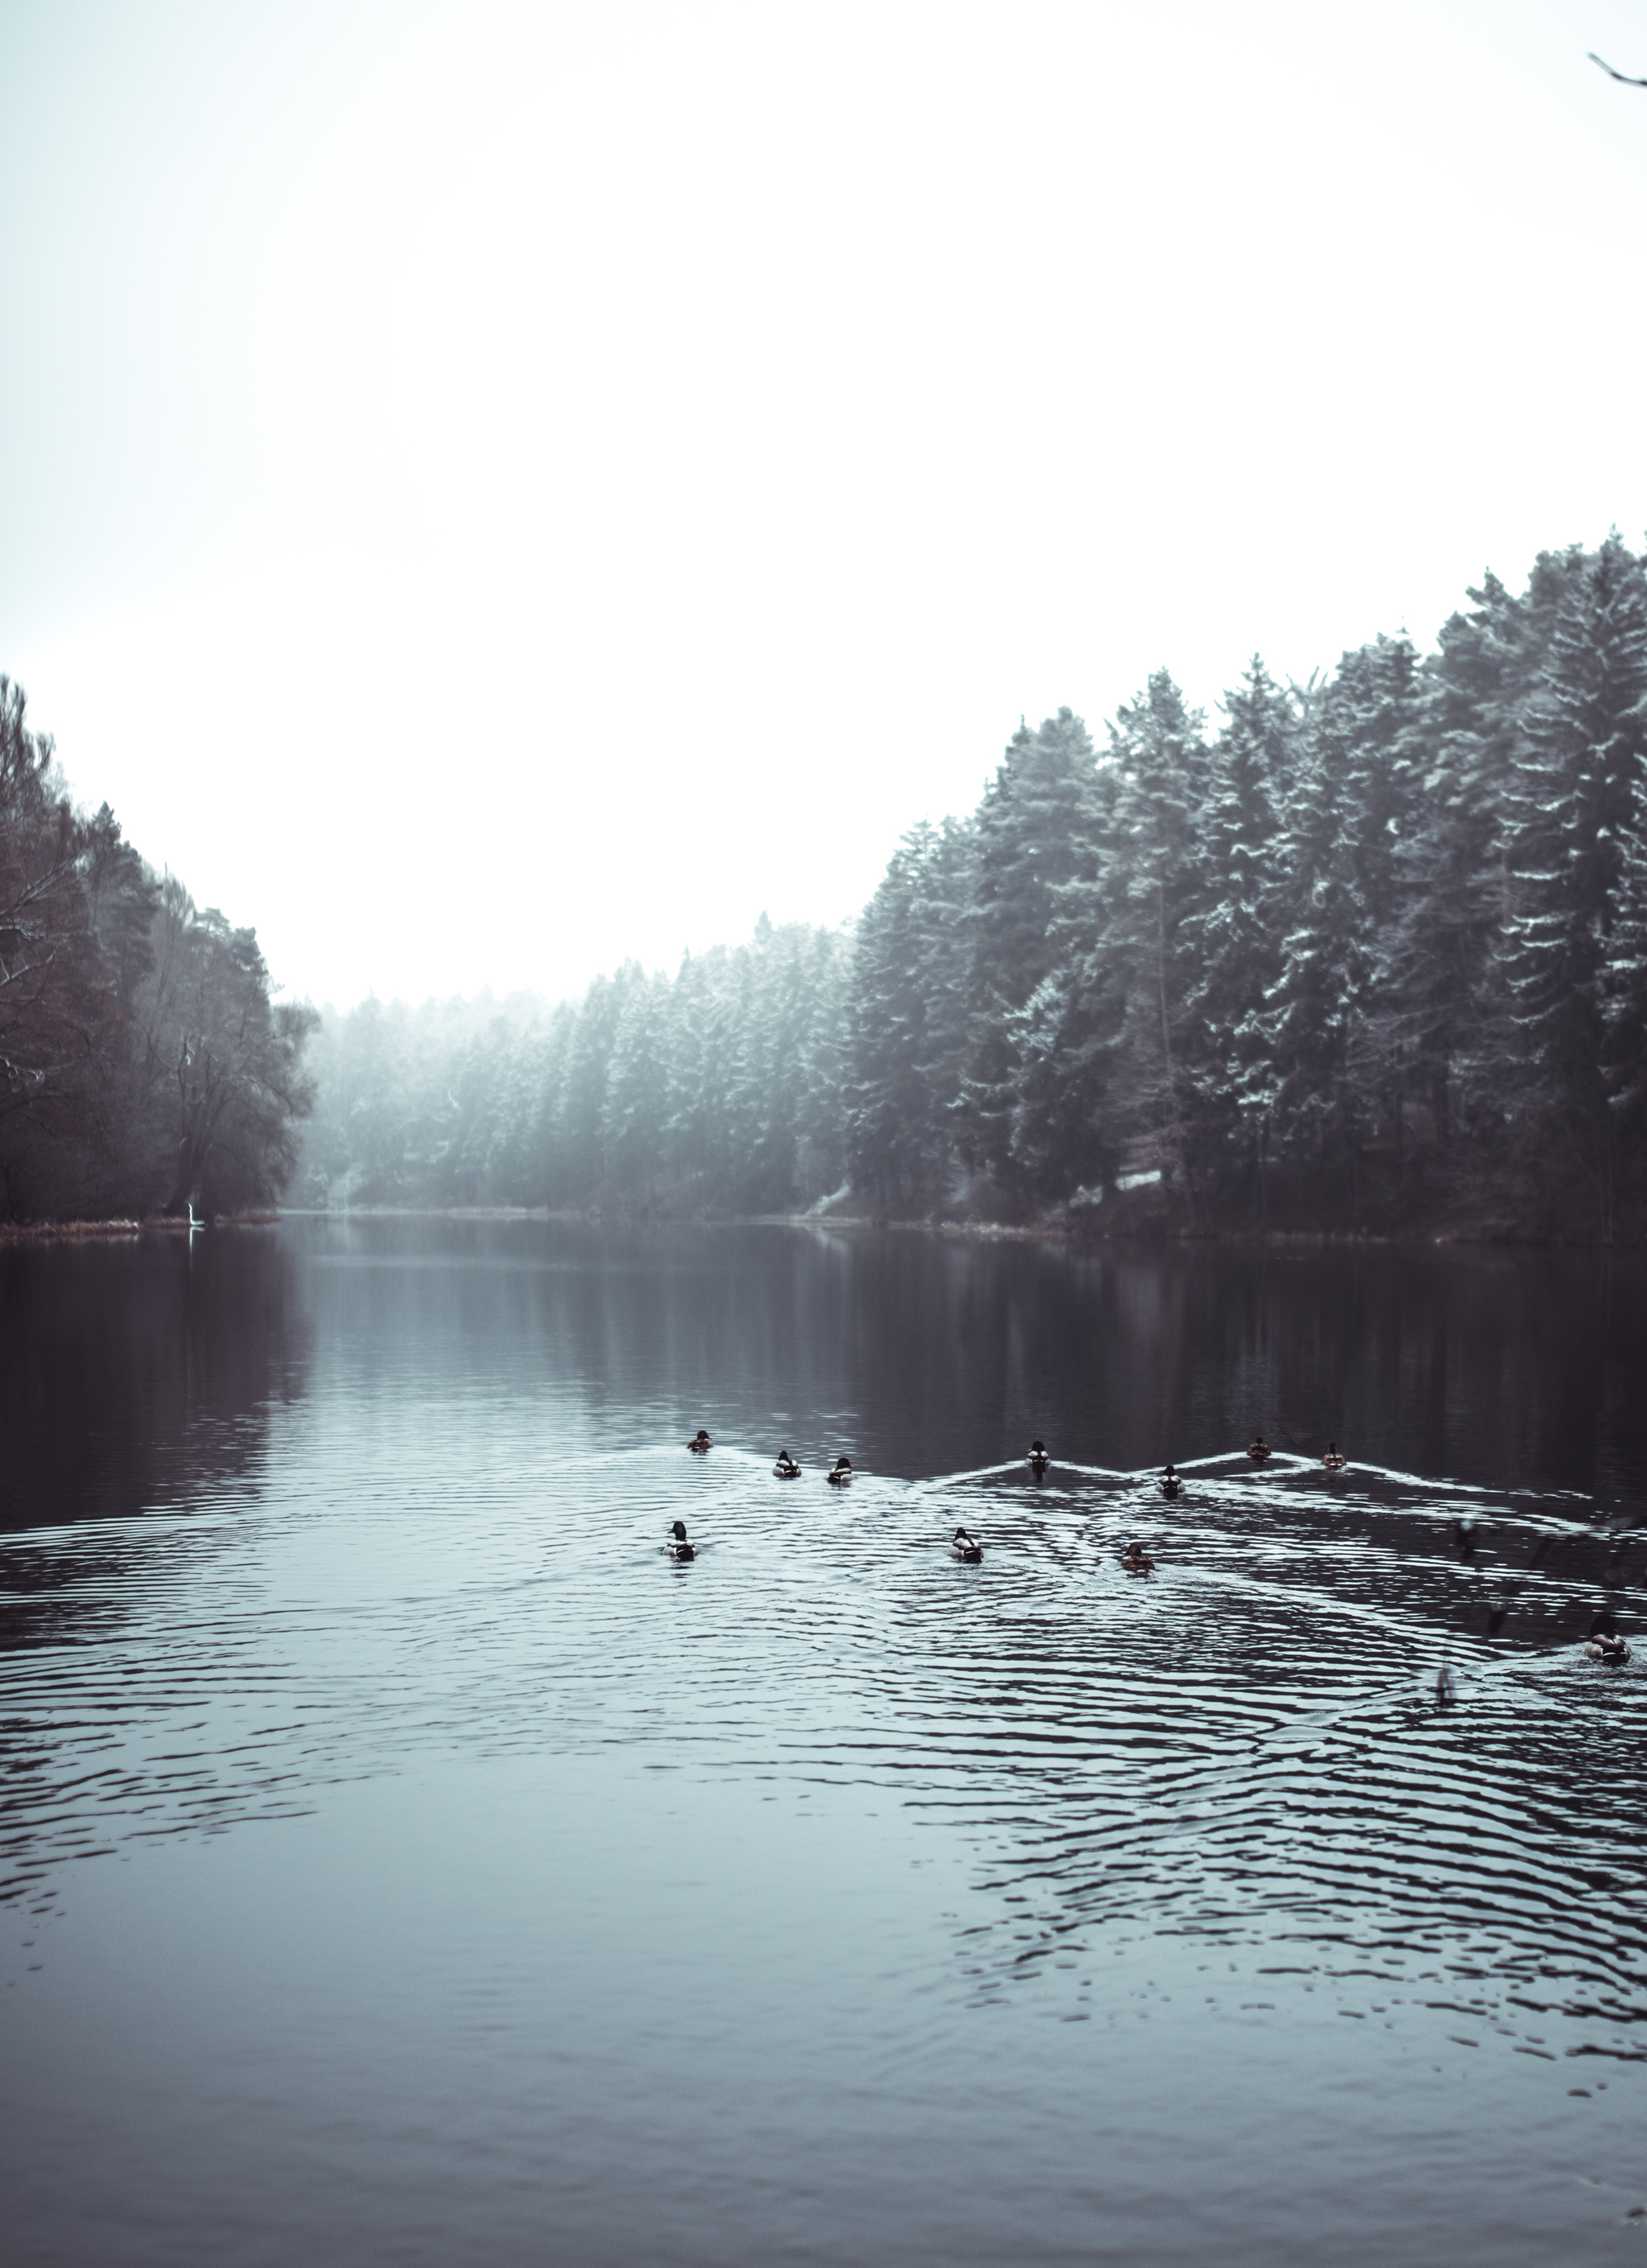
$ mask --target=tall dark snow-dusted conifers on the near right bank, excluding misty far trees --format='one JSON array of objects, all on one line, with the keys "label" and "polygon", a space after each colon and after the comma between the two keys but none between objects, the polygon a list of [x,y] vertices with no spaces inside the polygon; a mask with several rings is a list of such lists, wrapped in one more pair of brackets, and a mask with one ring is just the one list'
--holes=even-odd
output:
[{"label": "tall dark snow-dusted conifers on the near right bank, excluding misty far trees", "polygon": [[[1171,676],[1021,730],[860,923],[853,1179],[892,1211],[1159,1175],[1186,1222],[1613,1236],[1647,1129],[1647,576],[1488,578],[1438,649]],[[892,1034],[910,1034],[907,1050]],[[896,1059],[894,1059],[896,1057]]]}]

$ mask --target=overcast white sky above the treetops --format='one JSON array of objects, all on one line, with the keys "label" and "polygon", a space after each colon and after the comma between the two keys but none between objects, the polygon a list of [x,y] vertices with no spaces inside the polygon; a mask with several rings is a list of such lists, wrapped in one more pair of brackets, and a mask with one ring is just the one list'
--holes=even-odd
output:
[{"label": "overcast white sky above the treetops", "polygon": [[295,993],[855,912],[1647,528],[1647,0],[0,0],[0,669]]}]

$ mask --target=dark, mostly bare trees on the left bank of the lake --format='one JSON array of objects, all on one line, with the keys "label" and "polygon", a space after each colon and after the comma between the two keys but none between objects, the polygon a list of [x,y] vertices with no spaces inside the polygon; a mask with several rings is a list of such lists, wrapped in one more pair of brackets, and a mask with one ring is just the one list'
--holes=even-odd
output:
[{"label": "dark, mostly bare trees on the left bank of the lake", "polygon": [[0,676],[0,1220],[268,1204],[309,1109],[311,1009],[68,801]]}]

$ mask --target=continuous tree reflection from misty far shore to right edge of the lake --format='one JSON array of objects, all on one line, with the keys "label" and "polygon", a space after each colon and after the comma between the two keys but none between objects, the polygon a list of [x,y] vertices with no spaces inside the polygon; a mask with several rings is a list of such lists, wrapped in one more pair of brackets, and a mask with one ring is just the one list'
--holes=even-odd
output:
[{"label": "continuous tree reflection from misty far shore to right edge of the lake", "polygon": [[[336,1232],[329,1232],[336,1234]],[[855,1429],[905,1476],[1032,1433],[1059,1458],[1157,1465],[1255,1427],[1320,1454],[1506,1490],[1647,1490],[1647,1270],[1529,1250],[1059,1247],[783,1227],[374,1220],[347,1297],[397,1343],[479,1340],[599,1406],[667,1406],[776,1449],[776,1413]],[[660,1420],[662,1422],[662,1420]],[[789,1422],[785,1415],[778,1422]]]}]

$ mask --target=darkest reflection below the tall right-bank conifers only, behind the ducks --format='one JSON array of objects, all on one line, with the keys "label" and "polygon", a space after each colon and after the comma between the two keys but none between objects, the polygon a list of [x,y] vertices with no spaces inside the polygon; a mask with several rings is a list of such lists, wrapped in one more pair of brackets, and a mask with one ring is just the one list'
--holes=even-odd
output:
[{"label": "darkest reflection below the tall right-bank conifers only, behind the ducks", "polygon": [[[1245,1442],[1504,1488],[1638,1490],[1640,1263],[1604,1254],[1127,1250],[862,1238],[871,1433],[987,1463],[1046,1433],[1125,1470]],[[1078,1438],[1071,1438],[1071,1420]],[[1059,1429],[1059,1438],[1050,1431]],[[930,1447],[926,1449],[930,1454]],[[912,1467],[914,1470],[914,1467]]]}]

